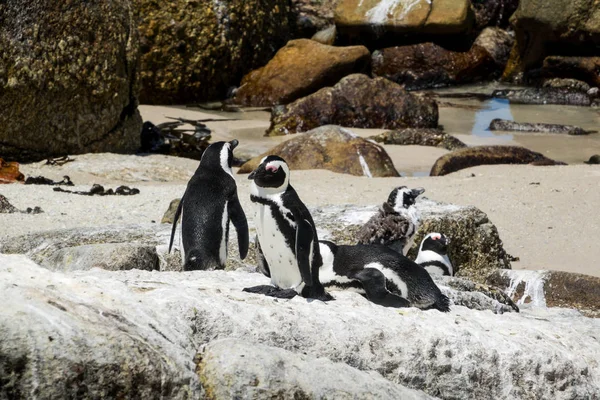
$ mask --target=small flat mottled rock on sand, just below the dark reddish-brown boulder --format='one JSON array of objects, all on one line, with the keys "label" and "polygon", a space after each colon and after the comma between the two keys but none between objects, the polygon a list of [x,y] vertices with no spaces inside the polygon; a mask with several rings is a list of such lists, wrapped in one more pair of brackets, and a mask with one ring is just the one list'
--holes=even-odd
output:
[{"label": "small flat mottled rock on sand, just below the dark reddish-brown boulder", "polygon": [[439,129],[399,129],[371,136],[371,139],[383,144],[434,146],[447,150],[461,149],[467,146],[459,139]]}]

